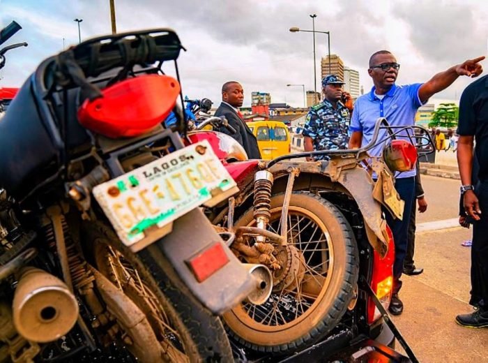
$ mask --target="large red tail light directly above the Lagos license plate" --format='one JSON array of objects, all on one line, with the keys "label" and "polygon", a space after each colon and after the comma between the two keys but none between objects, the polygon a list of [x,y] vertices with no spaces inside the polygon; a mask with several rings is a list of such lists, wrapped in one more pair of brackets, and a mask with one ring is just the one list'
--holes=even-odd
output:
[{"label": "large red tail light directly above the Lagos license plate", "polygon": [[102,97],[85,100],[78,120],[108,138],[142,135],[166,119],[179,93],[173,77],[141,75],[102,89]]}]

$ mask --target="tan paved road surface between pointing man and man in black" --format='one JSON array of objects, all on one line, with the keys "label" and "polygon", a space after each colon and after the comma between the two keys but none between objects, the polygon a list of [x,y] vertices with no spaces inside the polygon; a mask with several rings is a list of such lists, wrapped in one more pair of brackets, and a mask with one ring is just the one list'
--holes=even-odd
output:
[{"label": "tan paved road surface between pointing man and man in black", "polygon": [[404,313],[394,321],[419,362],[488,362],[488,328],[455,323],[457,314],[473,311],[468,305],[471,248],[461,245],[471,230],[432,223],[449,226],[457,218],[459,180],[422,176],[422,184],[429,206],[418,214],[418,227],[425,229],[417,234],[415,265],[425,271],[402,278]]}]

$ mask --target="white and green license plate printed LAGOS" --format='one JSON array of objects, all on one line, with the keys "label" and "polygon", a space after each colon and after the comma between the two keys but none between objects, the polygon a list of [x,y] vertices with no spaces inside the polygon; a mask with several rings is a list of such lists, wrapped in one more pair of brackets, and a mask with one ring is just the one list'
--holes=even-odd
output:
[{"label": "white and green license plate printed LAGOS", "polygon": [[93,195],[123,244],[139,251],[171,232],[176,218],[236,191],[204,140],[100,184]]}]

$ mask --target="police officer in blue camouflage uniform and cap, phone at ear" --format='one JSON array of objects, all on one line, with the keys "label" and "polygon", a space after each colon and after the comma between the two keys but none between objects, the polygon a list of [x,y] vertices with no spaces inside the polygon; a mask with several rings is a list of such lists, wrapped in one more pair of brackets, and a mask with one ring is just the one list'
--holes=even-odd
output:
[{"label": "police officer in blue camouflage uniform and cap, phone at ear", "polygon": [[[342,91],[343,84],[337,75],[323,78],[323,101],[310,108],[303,128],[305,151],[347,149],[352,99]],[[314,159],[328,160],[328,157],[315,156]]]}]

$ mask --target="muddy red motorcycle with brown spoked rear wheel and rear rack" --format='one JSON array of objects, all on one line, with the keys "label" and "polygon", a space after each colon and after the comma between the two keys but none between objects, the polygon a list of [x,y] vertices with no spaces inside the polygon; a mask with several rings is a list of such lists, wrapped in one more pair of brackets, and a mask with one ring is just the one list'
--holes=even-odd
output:
[{"label": "muddy red motorcycle with brown spoked rear wheel and rear rack", "polygon": [[[247,160],[227,135],[188,134],[190,143],[211,142],[240,189],[228,202],[207,209],[208,218],[216,228],[235,232],[229,246],[241,261],[261,263],[273,272],[273,292],[266,302],[243,302],[224,314],[234,341],[254,352],[290,355],[330,336],[344,321],[363,321],[363,332],[374,335],[370,332],[381,325],[381,313],[367,297],[368,286],[383,310],[392,286],[394,244],[383,210],[403,218],[393,177],[395,171],[414,167],[415,137],[429,145],[420,153],[434,150],[420,126],[397,128],[379,119],[372,141],[361,149],[265,162]],[[369,149],[390,139],[383,158],[369,157]],[[330,161],[286,161],[314,155],[328,155]],[[346,335],[361,330],[356,323],[346,325]]]}]

